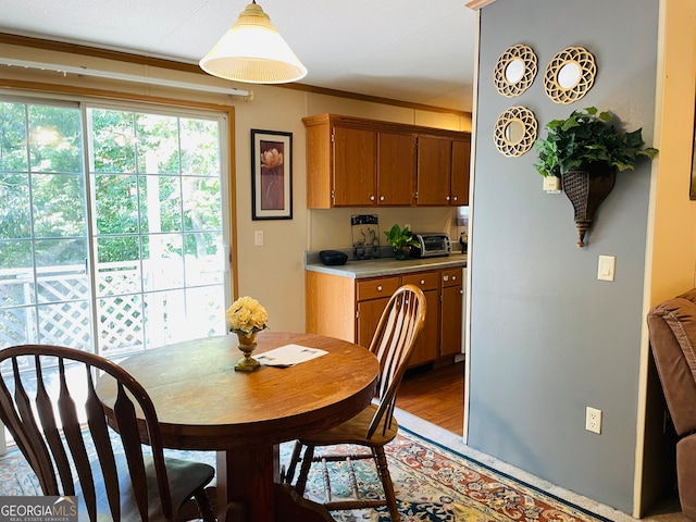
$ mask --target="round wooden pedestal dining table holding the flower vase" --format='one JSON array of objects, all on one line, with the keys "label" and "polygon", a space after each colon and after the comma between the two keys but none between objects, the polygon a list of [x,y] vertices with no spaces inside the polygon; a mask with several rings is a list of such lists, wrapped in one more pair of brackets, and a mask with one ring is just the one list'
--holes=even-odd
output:
[{"label": "round wooden pedestal dining table holding the flower vase", "polygon": [[[145,350],[119,361],[148,391],[166,448],[216,451],[219,520],[228,502],[247,520],[319,521],[328,513],[281,485],[278,444],[333,427],[374,397],[380,370],[361,346],[314,334],[260,332],[253,356],[294,344],[327,351],[288,368],[237,372],[233,335]],[[110,407],[115,388],[99,381]],[[319,513],[319,514],[318,514]]]}]

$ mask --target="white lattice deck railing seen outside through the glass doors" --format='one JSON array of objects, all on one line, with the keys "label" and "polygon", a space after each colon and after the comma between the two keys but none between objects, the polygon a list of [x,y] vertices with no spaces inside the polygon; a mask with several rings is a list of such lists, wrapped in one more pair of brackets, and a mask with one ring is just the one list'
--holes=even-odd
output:
[{"label": "white lattice deck railing seen outside through the glass doors", "polygon": [[[167,270],[166,261],[149,266],[139,261],[101,263],[96,273],[96,328],[99,351],[116,356],[163,344],[224,333],[223,273],[216,257],[188,260],[196,263],[187,273],[199,278],[197,287],[182,289],[174,281],[181,273]],[[179,263],[181,260],[175,261]],[[141,268],[142,266],[142,268]],[[172,277],[169,282],[167,277]],[[0,270],[0,347],[17,339],[95,350],[92,341],[90,282],[84,265],[30,270]],[[153,282],[157,279],[157,283]],[[36,298],[34,294],[36,281]],[[161,291],[141,294],[141,286]],[[167,289],[169,288],[169,289]],[[183,312],[186,293],[188,312]],[[21,303],[38,302],[40,338],[36,332],[35,309]],[[145,302],[141,302],[145,300]],[[192,302],[195,301],[195,302]],[[144,316],[144,315],[147,315]],[[194,316],[195,315],[195,316]],[[179,324],[187,322],[184,326]],[[149,332],[144,332],[144,328]],[[190,335],[182,331],[185,330]],[[181,338],[184,337],[184,338]]]}]

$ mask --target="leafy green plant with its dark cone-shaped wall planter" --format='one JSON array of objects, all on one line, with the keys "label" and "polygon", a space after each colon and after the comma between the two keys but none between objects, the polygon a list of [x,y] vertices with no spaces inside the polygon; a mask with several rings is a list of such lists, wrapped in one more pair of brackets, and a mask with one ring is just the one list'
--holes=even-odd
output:
[{"label": "leafy green plant with its dark cone-shaped wall planter", "polygon": [[575,227],[584,247],[599,203],[613,188],[616,172],[633,170],[642,158],[655,158],[657,149],[644,147],[642,128],[620,133],[609,112],[589,107],[571,112],[566,120],[546,125],[548,135],[537,139],[534,167],[543,176],[561,179],[563,191],[575,211]]}]

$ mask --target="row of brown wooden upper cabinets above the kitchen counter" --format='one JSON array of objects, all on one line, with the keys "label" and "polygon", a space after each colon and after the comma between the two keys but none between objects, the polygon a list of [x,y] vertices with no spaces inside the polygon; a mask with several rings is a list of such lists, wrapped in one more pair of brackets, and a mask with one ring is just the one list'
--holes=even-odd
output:
[{"label": "row of brown wooden upper cabinets above the kitchen counter", "polygon": [[450,201],[460,163],[467,164],[467,179],[457,183],[469,184],[469,162],[462,160],[469,150],[452,144],[468,144],[469,133],[335,114],[302,122],[308,208],[465,204]]}]

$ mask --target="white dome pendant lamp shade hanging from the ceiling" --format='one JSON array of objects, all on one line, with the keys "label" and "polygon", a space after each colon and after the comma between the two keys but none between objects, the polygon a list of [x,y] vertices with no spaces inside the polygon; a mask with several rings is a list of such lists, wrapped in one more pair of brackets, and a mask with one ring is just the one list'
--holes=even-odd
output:
[{"label": "white dome pendant lamp shade hanging from the ceiling", "polygon": [[199,62],[208,74],[250,84],[286,84],[307,75],[295,55],[256,1]]}]

